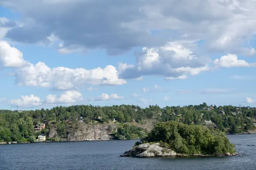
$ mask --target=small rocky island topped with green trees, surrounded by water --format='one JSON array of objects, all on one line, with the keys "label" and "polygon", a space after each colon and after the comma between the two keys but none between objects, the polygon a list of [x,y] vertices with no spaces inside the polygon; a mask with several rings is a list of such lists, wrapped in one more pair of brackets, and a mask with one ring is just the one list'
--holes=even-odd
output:
[{"label": "small rocky island topped with green trees, surrounded by water", "polygon": [[147,137],[121,156],[235,156],[238,153],[234,147],[220,130],[171,121],[157,124]]}]

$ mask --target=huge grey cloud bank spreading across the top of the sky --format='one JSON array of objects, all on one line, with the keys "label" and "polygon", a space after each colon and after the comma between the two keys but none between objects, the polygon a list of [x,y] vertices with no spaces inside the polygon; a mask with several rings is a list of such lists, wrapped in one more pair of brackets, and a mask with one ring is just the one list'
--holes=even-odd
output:
[{"label": "huge grey cloud bank spreading across the top of the sky", "polygon": [[23,26],[6,34],[19,42],[48,40],[54,33],[61,49],[104,48],[120,54],[132,47],[160,46],[171,37],[201,41],[201,48],[208,51],[255,54],[250,42],[256,31],[255,0],[1,2],[22,16]]}]

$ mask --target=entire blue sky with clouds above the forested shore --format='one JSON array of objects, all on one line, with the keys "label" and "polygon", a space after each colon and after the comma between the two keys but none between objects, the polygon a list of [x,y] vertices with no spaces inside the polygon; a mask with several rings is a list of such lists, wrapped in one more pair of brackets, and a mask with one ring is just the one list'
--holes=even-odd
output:
[{"label": "entire blue sky with clouds above the forested shore", "polygon": [[0,0],[0,109],[255,106],[255,6]]}]

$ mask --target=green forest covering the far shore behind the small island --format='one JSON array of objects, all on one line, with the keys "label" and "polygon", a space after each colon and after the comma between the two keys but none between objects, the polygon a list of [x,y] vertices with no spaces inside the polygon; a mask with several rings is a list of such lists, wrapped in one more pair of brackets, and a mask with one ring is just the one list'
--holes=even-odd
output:
[{"label": "green forest covering the far shore behind the small island", "polygon": [[[256,118],[255,108],[236,107],[236,106],[213,106],[212,111],[206,103],[201,105],[189,106],[166,106],[160,108],[158,105],[150,105],[148,108],[140,108],[136,105],[113,105],[113,106],[93,106],[93,105],[75,105],[69,107],[54,107],[52,109],[34,110],[34,111],[9,111],[0,110],[0,141],[23,141],[29,136],[36,136],[34,125],[47,121],[58,122],[57,128],[61,136],[67,135],[67,128],[76,130],[76,123],[72,125],[65,124],[64,120],[75,120],[82,117],[86,123],[98,121],[99,123],[113,122],[113,120],[122,124],[124,122],[143,123],[145,119],[154,119],[155,122],[179,121],[186,125],[204,124],[205,120],[211,120],[218,129],[228,133],[240,133],[242,131],[253,130],[253,119]],[[224,114],[223,114],[224,113]],[[102,119],[96,119],[101,116]],[[71,126],[71,127],[70,127]],[[125,127],[126,128],[126,127]],[[48,133],[49,127],[41,133]],[[141,130],[136,130],[141,131]],[[125,136],[120,131],[121,139]],[[129,132],[125,138],[129,139]],[[139,134],[138,134],[139,135]],[[119,136],[120,137],[120,136]],[[140,137],[140,135],[139,135]]]}]

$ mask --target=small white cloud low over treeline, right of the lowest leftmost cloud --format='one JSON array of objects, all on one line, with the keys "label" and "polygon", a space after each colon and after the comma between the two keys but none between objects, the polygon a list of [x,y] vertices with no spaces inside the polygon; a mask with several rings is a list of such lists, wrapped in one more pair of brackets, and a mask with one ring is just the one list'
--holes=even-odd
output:
[{"label": "small white cloud low over treeline, right of the lowest leftmost cloud", "polygon": [[65,91],[64,94],[57,97],[56,94],[49,94],[46,97],[47,103],[75,103],[79,100],[82,100],[82,94],[78,91]]}]

